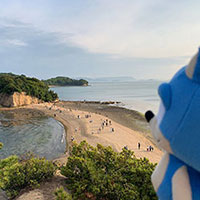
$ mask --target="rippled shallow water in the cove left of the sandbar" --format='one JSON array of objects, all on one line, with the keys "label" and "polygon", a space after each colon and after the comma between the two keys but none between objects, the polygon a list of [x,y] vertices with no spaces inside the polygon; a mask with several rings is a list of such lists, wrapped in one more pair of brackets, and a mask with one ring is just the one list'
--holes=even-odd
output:
[{"label": "rippled shallow water in the cove left of the sandbar", "polygon": [[[12,119],[0,116],[0,121],[6,120],[12,122]],[[0,141],[4,144],[0,150],[0,158],[30,151],[47,159],[55,159],[63,154],[66,148],[64,127],[48,117],[33,118],[19,125],[8,123],[5,126],[1,123]]]}]

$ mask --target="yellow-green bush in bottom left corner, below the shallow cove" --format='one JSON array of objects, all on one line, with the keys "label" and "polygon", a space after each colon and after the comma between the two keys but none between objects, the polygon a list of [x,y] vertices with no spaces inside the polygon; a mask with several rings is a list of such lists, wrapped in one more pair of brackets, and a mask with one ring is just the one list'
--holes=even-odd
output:
[{"label": "yellow-green bush in bottom left corner, below the shallow cove", "polygon": [[9,156],[0,160],[0,188],[9,197],[16,196],[25,187],[38,186],[55,172],[52,162],[28,155],[26,158]]}]

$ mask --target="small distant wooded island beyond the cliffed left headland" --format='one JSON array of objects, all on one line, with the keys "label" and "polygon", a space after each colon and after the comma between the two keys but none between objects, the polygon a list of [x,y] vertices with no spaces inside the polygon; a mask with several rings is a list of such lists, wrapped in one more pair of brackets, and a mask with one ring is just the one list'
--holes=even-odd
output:
[{"label": "small distant wooded island beyond the cliffed left headland", "polygon": [[88,86],[88,81],[84,79],[75,80],[68,77],[58,76],[56,78],[50,78],[44,80],[47,85],[55,86]]}]

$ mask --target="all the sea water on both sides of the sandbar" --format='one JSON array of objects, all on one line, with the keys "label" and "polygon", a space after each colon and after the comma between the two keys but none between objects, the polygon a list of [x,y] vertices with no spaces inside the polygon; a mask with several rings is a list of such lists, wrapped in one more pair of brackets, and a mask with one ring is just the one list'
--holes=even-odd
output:
[{"label": "all the sea water on both sides of the sandbar", "polygon": [[[89,86],[53,87],[60,100],[66,101],[115,101],[117,106],[145,113],[157,112],[159,97],[157,88],[161,81],[140,80],[129,82],[90,82]],[[0,115],[0,159],[9,155],[22,155],[32,152],[47,159],[55,159],[65,152],[64,127],[49,117],[34,118],[26,123],[17,124],[16,119]]]}]

